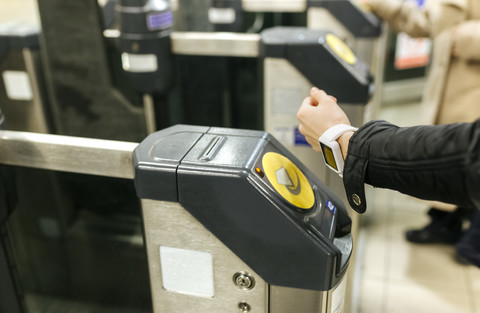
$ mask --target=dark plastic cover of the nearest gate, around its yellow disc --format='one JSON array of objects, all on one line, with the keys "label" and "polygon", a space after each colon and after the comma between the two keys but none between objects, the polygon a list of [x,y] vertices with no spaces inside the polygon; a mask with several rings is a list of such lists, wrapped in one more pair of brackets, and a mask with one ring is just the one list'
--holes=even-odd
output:
[{"label": "dark plastic cover of the nearest gate, around its yellow disc", "polygon": [[[254,170],[266,152],[287,157],[305,174],[313,208],[300,212]],[[271,135],[174,126],[147,137],[134,162],[140,198],[178,201],[267,283],[323,291],[345,274],[351,251],[334,243],[350,233],[345,207]]]}]

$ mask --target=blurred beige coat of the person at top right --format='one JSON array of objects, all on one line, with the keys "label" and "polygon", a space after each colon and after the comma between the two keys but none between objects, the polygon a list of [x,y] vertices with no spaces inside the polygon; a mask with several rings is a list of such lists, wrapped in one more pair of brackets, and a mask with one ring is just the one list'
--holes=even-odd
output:
[{"label": "blurred beige coat of the person at top right", "polygon": [[[433,39],[423,95],[425,123],[480,117],[480,0],[370,0],[375,14],[397,31]],[[455,47],[455,56],[452,49]]]}]

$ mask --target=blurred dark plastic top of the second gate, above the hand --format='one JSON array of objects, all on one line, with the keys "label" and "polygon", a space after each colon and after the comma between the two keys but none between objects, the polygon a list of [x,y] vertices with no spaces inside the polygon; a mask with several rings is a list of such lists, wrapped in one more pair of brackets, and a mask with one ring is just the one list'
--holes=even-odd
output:
[{"label": "blurred dark plastic top of the second gate, above the hand", "polygon": [[373,92],[373,77],[358,57],[347,63],[330,47],[323,30],[274,27],[262,32],[262,56],[284,58],[314,86],[335,96],[339,103],[366,104]]}]

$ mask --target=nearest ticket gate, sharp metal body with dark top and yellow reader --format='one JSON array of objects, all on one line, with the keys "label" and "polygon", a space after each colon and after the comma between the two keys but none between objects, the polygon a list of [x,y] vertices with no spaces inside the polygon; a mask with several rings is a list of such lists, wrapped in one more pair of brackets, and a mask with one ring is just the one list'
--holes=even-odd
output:
[{"label": "nearest ticket gate, sharp metal body with dark top and yellow reader", "polygon": [[154,312],[342,312],[351,221],[271,135],[176,126],[134,163]]}]

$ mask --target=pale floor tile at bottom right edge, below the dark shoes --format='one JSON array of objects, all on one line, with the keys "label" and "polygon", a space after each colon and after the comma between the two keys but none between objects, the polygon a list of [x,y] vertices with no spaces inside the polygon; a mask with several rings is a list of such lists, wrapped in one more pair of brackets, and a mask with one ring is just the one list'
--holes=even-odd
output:
[{"label": "pale floor tile at bottom right edge, below the dark shoes", "polygon": [[451,286],[390,283],[384,313],[470,313],[468,296]]}]

